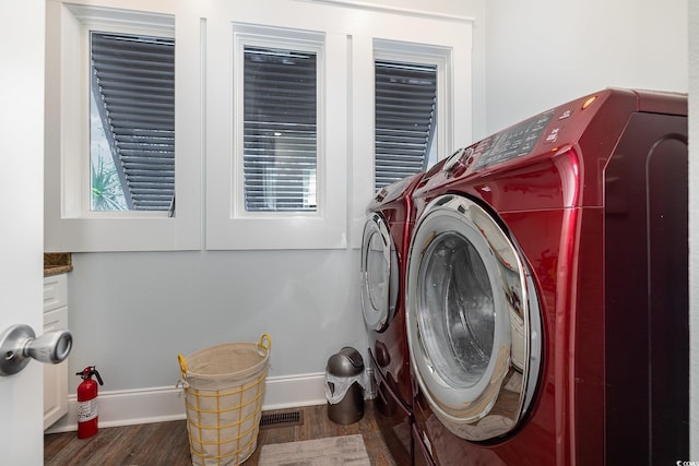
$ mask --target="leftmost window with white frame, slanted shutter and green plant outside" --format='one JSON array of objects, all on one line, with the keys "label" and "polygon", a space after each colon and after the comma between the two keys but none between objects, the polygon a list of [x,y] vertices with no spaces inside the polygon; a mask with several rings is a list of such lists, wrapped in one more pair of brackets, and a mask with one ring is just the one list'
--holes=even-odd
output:
[{"label": "leftmost window with white frame, slanted shutter and green plant outside", "polygon": [[139,7],[46,2],[48,252],[201,249],[202,24]]}]

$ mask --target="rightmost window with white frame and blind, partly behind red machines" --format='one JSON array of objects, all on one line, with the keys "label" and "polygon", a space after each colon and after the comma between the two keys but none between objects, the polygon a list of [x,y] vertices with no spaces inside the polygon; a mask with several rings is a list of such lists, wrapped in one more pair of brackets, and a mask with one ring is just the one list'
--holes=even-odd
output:
[{"label": "rightmost window with white frame and blind, partly behind red machines", "polygon": [[355,248],[362,246],[366,206],[377,190],[429,169],[471,141],[471,25],[425,24],[352,40],[350,242]]}]

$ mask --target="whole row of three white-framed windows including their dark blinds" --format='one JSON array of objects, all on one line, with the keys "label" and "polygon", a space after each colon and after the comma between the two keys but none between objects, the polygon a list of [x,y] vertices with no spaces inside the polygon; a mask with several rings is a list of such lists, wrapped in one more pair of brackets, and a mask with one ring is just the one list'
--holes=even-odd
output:
[{"label": "whole row of three white-framed windows including their dark blinds", "polygon": [[[471,141],[472,19],[117,3],[46,2],[46,251],[358,248],[378,187]],[[135,70],[167,85],[115,100]]]}]

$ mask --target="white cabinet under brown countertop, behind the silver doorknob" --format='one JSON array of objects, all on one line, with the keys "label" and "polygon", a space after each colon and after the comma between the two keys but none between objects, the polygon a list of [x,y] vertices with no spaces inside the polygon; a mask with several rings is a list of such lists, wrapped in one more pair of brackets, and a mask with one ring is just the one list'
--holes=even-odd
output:
[{"label": "white cabinet under brown countertop, behind the silver doorknob", "polygon": [[[68,328],[66,274],[44,277],[44,333]],[[68,413],[68,360],[44,365],[44,429]]]}]

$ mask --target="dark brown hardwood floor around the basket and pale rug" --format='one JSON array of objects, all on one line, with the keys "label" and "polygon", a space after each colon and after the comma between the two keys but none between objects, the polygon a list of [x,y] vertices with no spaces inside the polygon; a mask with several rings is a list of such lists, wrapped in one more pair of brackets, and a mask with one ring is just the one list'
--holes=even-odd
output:
[{"label": "dark brown hardwood floor around the basket and pale rug", "polygon": [[[374,466],[398,465],[389,453],[377,423],[374,404],[367,402],[362,420],[348,426],[328,418],[325,405],[309,406],[268,414],[301,411],[303,423],[279,425],[260,429],[258,446],[245,465],[257,465],[262,445],[322,439],[360,433]],[[140,426],[100,428],[99,432],[80,440],[75,432],[44,437],[44,464],[47,466],[185,466],[191,465],[189,438],[185,420]]]}]

